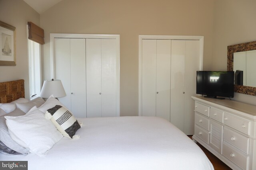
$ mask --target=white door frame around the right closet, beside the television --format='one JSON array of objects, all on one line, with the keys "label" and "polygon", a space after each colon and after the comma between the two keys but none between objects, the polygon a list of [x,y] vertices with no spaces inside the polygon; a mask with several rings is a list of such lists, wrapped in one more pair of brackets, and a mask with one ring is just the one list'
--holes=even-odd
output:
[{"label": "white door frame around the right closet, beside the television", "polygon": [[139,116],[142,116],[142,40],[168,39],[168,40],[199,40],[199,70],[203,70],[204,36],[194,35],[139,35]]}]

